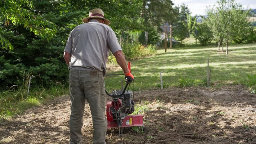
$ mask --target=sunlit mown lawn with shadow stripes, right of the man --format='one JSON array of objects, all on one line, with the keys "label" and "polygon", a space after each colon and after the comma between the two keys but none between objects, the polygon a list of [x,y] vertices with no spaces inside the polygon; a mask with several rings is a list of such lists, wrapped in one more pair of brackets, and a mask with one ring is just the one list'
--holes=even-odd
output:
[{"label": "sunlit mown lawn with shadow stripes, right of the man", "polygon": [[[256,74],[256,44],[230,45],[228,55],[216,47],[208,46],[167,49],[166,53],[164,49],[160,49],[152,57],[131,62],[135,91],[159,89],[160,72],[162,72],[164,88],[205,86],[207,58],[210,61],[212,84],[247,85],[248,75],[253,77]],[[122,71],[108,73],[122,73]],[[121,89],[121,81],[123,76],[106,76],[105,86],[109,90]]]}]

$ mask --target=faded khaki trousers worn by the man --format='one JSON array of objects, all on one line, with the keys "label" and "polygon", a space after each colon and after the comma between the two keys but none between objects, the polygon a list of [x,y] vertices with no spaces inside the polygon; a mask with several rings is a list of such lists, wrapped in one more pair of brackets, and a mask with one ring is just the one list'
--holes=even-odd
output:
[{"label": "faded khaki trousers worn by the man", "polygon": [[105,117],[105,84],[102,72],[70,70],[69,91],[71,115],[69,144],[82,144],[82,126],[85,99],[93,117],[93,143],[106,144],[107,120]]}]

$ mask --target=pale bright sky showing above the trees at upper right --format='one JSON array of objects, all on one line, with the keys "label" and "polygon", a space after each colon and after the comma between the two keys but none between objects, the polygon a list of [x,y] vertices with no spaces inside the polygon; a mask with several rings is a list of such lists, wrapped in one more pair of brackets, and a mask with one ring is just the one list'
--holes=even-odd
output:
[{"label": "pale bright sky showing above the trees at upper right", "polygon": [[[172,0],[175,6],[184,3],[188,5],[192,16],[194,15],[206,15],[206,7],[217,4],[217,0]],[[256,9],[256,0],[237,0],[237,3],[242,4],[243,9]]]}]

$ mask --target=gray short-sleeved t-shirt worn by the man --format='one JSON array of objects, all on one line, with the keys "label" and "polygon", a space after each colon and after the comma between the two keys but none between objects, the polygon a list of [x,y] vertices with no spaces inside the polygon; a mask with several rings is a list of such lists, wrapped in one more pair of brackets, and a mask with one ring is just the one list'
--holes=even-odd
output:
[{"label": "gray short-sleeved t-shirt worn by the man", "polygon": [[111,27],[93,19],[80,24],[68,36],[64,51],[71,54],[68,69],[86,69],[106,73],[109,50],[122,50]]}]

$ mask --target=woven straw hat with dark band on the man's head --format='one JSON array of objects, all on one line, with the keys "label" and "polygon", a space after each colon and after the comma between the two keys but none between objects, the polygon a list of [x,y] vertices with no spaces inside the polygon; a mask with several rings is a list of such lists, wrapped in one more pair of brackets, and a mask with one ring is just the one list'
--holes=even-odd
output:
[{"label": "woven straw hat with dark band on the man's head", "polygon": [[[89,17],[83,18],[82,21],[84,23],[87,23],[87,22],[89,22],[88,20],[90,18],[102,18],[102,19],[105,19],[104,18],[104,12],[102,11],[102,9],[92,9],[92,10],[89,11]],[[109,25],[110,23],[111,22],[109,20],[105,19],[104,24]]]}]

